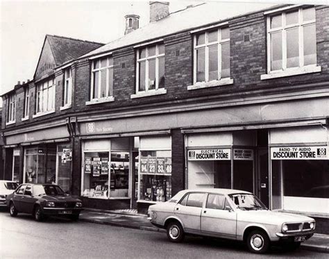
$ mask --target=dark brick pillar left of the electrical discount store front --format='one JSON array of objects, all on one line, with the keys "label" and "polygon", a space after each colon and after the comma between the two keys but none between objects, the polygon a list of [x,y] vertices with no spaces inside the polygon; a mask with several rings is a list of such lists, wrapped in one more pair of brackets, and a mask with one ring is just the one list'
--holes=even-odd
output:
[{"label": "dark brick pillar left of the electrical discount store front", "polygon": [[174,129],[171,131],[171,158],[171,196],[174,196],[185,187],[184,135],[179,129]]}]

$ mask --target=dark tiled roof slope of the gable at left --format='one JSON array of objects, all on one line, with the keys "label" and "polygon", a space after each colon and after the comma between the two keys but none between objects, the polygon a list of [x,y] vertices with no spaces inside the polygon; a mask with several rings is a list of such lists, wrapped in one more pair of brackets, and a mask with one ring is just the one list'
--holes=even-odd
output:
[{"label": "dark tiled roof slope of the gable at left", "polygon": [[46,37],[56,65],[62,65],[69,60],[78,58],[104,45],[99,42],[89,42],[87,40],[78,40],[57,35],[46,35]]}]

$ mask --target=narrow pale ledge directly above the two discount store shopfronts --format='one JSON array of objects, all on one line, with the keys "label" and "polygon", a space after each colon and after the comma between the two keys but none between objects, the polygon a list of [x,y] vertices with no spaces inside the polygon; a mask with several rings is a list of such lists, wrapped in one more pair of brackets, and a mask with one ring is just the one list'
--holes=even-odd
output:
[{"label": "narrow pale ledge directly above the two discount store shopfronts", "polygon": [[294,120],[294,121],[280,121],[280,122],[264,122],[260,124],[233,124],[220,127],[205,127],[205,128],[183,128],[180,130],[183,134],[189,133],[210,133],[218,131],[241,131],[241,130],[252,130],[260,128],[285,128],[285,127],[296,127],[296,126],[314,126],[326,125],[326,119],[309,119],[309,120]]}]

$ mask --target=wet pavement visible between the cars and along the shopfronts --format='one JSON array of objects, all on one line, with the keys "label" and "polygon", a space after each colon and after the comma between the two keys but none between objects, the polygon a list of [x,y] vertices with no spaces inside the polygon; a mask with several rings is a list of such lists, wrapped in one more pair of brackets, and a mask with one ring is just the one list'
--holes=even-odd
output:
[{"label": "wet pavement visible between the cars and along the shopfronts", "polygon": [[[85,209],[81,212],[80,220],[96,224],[135,228],[144,231],[166,232],[165,229],[153,226],[147,216],[138,214],[137,210],[96,210]],[[309,240],[301,244],[302,249],[329,253],[329,235],[314,234]]]}]

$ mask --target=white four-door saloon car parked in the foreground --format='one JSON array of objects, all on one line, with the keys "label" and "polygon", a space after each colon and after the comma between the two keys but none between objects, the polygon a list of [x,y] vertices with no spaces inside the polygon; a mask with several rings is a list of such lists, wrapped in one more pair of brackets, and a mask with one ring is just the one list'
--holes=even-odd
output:
[{"label": "white four-door saloon car parked in the foreground", "polygon": [[310,217],[268,210],[252,193],[230,189],[180,191],[150,206],[149,220],[167,229],[171,242],[185,233],[221,237],[244,241],[253,253],[265,253],[271,242],[296,249],[315,230]]}]

